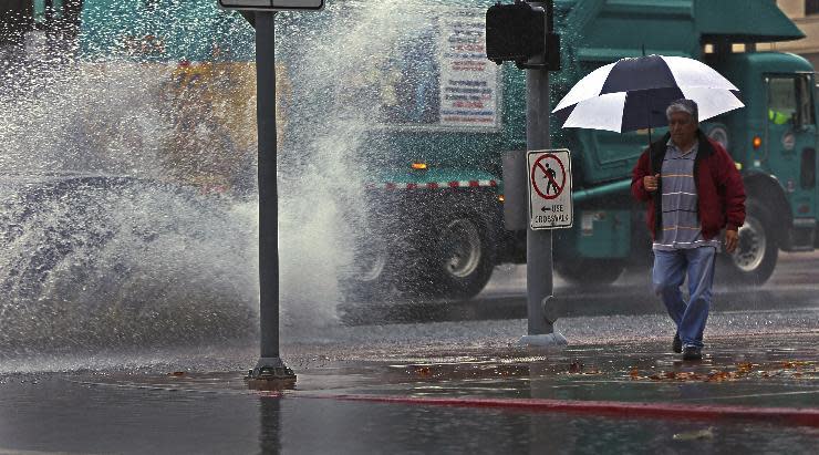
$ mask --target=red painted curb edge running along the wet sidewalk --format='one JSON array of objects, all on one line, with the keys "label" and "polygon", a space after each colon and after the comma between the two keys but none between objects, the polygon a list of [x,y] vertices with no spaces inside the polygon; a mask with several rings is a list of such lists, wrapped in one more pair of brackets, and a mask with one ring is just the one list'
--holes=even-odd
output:
[{"label": "red painted curb edge running along the wet sidewalk", "polygon": [[400,403],[431,406],[496,407],[538,412],[567,412],[619,417],[746,418],[819,427],[819,409],[755,407],[733,405],[626,403],[616,401],[569,401],[545,399],[435,399],[379,395],[291,395],[294,397]]}]

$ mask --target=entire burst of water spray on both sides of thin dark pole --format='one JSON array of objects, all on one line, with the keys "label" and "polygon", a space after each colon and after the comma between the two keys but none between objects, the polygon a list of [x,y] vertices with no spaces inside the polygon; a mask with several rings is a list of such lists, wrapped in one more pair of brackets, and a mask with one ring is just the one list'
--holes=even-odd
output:
[{"label": "entire burst of water spray on both sides of thin dark pole", "polygon": [[[197,18],[225,14],[215,6],[197,8],[207,9]],[[345,2],[277,19],[288,333],[338,320],[338,279],[354,268],[355,239],[369,224],[364,187],[374,177],[365,169],[386,159],[369,148],[386,134],[379,126],[390,94],[384,69],[428,25],[429,8]],[[217,64],[186,66],[179,60],[197,56],[134,61],[134,49],[162,51],[164,44],[153,37],[134,44],[129,31],[111,28],[113,15],[94,14],[85,20],[127,38],[116,48],[122,52],[49,46],[38,34],[3,51],[3,352],[255,334],[258,211],[255,97],[248,93],[255,73],[247,62],[218,66],[243,45],[252,49],[249,25],[238,20],[212,30],[207,49],[196,52]],[[210,23],[182,21],[166,29],[179,34]],[[228,196],[199,194],[222,187],[232,188]]]}]

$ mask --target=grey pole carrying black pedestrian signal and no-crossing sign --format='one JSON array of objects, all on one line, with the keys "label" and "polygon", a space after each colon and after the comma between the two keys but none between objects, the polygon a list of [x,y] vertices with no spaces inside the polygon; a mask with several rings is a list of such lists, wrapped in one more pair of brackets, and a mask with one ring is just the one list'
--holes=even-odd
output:
[{"label": "grey pole carrying black pedestrian signal and no-crossing sign", "polygon": [[[543,20],[546,24],[540,27],[540,22]],[[549,137],[549,112],[551,112],[549,107],[549,71],[560,69],[560,37],[554,34],[553,0],[515,0],[515,4],[507,6],[498,3],[487,10],[486,21],[487,58],[498,64],[504,61],[514,61],[518,68],[527,69],[526,148],[528,151],[548,149],[551,146]],[[535,30],[535,37],[530,33],[532,30]],[[530,45],[532,44],[531,40],[537,40],[537,45]],[[535,159],[537,162],[537,158]],[[547,169],[546,179],[541,175],[536,176],[538,190],[546,196],[541,196],[545,199],[543,203],[538,203],[538,210],[543,214],[540,215],[543,218],[539,218],[540,221],[530,223],[526,232],[526,293],[529,327],[528,334],[520,339],[520,343],[530,347],[566,344],[566,338],[554,331],[554,306],[549,303],[552,298],[552,239],[550,228],[557,227],[551,226],[552,221],[554,221],[554,225],[567,223],[566,215],[558,213],[559,215],[554,217],[554,210],[560,210],[563,206],[571,209],[571,169],[561,179],[560,176],[563,174],[559,176],[557,170],[554,170],[554,175],[549,172],[552,163],[557,166],[557,162],[550,159],[542,158],[539,163]],[[563,168],[569,165],[568,158],[558,161],[563,163]],[[547,163],[549,164],[548,167]],[[530,175],[533,165],[535,163],[529,165]],[[532,180],[531,177],[528,179]],[[528,186],[532,185],[530,183]],[[537,190],[535,193],[537,194]],[[556,193],[557,196],[552,197]],[[546,203],[550,199],[560,198],[561,195],[563,199],[560,200],[568,198],[569,205],[559,206],[558,203]],[[529,200],[532,200],[531,196]],[[550,215],[547,215],[547,211]],[[569,224],[571,218],[571,214],[568,214]]]}]

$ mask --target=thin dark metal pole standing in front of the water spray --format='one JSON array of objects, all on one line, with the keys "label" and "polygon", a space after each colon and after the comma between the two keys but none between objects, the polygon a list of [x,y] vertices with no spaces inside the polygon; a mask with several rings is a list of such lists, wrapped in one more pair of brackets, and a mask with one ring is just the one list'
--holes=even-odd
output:
[{"label": "thin dark metal pole standing in front of the water spray", "polygon": [[296,375],[279,356],[279,214],[276,180],[274,11],[256,11],[256,96],[259,128],[259,323],[261,358],[252,379]]}]

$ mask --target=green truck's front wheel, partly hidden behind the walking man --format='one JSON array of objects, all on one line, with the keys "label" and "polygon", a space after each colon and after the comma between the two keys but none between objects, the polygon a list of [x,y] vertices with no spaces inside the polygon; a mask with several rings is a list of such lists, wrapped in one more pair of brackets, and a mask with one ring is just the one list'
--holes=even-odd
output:
[{"label": "green truck's front wheel, partly hidden behind the walking man", "polygon": [[727,257],[727,278],[732,282],[761,286],[776,267],[779,246],[773,235],[770,215],[754,200],[747,205],[745,224],[739,228],[739,245]]}]

